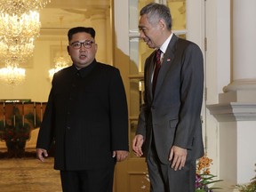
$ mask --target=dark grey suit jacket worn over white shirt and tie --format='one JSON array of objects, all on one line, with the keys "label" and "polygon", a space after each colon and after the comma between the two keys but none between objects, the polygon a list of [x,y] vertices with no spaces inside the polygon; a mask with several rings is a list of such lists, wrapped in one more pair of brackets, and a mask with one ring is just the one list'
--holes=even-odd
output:
[{"label": "dark grey suit jacket worn over white shirt and tie", "polygon": [[152,132],[160,160],[168,164],[173,145],[188,149],[188,156],[203,155],[200,113],[204,91],[204,61],[200,48],[173,34],[159,71],[155,97],[151,77],[156,52],[145,63],[145,104],[141,108],[137,134],[144,136],[148,154]]}]

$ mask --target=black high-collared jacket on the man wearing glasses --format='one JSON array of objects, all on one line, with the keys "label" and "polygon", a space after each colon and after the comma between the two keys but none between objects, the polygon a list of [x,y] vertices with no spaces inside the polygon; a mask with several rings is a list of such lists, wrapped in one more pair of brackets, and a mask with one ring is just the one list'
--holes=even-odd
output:
[{"label": "black high-collared jacket on the man wearing glasses", "polygon": [[94,60],[53,76],[36,148],[55,140],[54,168],[88,170],[113,166],[113,150],[128,151],[128,113],[124,84],[117,68]]}]

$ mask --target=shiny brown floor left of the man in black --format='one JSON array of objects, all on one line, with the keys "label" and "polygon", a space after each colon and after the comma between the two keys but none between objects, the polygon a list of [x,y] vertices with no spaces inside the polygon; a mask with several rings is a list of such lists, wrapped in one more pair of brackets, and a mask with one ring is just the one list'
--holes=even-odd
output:
[{"label": "shiny brown floor left of the man in black", "polygon": [[0,158],[1,192],[61,192],[60,172],[53,158],[45,163],[35,157]]}]

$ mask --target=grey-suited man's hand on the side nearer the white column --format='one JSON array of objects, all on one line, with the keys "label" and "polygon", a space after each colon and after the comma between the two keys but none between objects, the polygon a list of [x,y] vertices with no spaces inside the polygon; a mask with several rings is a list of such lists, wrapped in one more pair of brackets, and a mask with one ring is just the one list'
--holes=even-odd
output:
[{"label": "grey-suited man's hand on the side nearer the white column", "polygon": [[177,146],[172,146],[169,156],[169,161],[172,161],[171,167],[177,171],[181,170],[182,167],[185,166],[186,158],[187,158],[187,149],[180,148]]}]

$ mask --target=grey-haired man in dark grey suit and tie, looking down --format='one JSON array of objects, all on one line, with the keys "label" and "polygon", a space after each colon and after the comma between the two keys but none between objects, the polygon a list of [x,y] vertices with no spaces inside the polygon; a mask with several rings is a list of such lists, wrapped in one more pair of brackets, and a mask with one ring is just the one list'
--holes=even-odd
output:
[{"label": "grey-haired man in dark grey suit and tie, looking down", "polygon": [[139,28],[140,37],[156,51],[145,62],[145,104],[132,150],[146,156],[151,192],[195,192],[196,159],[204,154],[203,54],[172,33],[171,12],[164,4],[143,7]]}]

